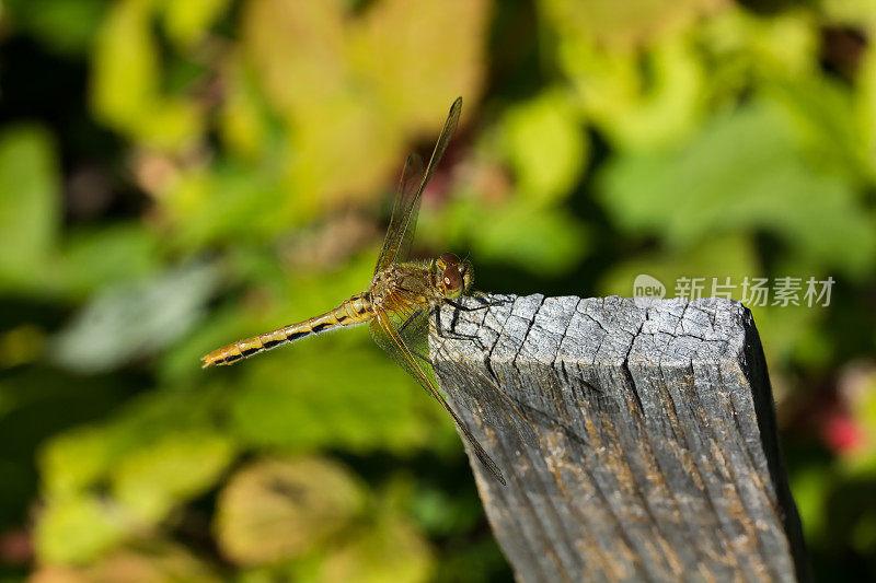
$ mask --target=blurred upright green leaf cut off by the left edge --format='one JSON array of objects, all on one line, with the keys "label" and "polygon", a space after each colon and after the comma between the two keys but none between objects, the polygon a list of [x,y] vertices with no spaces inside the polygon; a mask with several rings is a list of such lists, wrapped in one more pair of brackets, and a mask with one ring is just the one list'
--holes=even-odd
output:
[{"label": "blurred upright green leaf cut off by the left edge", "polygon": [[34,126],[0,133],[0,289],[44,282],[58,231],[55,145]]}]

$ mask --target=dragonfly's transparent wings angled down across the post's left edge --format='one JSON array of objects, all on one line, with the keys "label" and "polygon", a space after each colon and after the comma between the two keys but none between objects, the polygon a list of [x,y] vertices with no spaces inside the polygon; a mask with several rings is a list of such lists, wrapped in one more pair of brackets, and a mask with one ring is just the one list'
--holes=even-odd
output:
[{"label": "dragonfly's transparent wings angled down across the post's left edge", "polygon": [[[472,447],[472,451],[474,451],[477,459],[481,460],[484,467],[489,470],[489,473],[499,481],[499,483],[505,486],[505,478],[503,477],[498,466],[493,458],[489,457],[489,454],[484,451],[483,446],[481,446],[477,440],[474,439],[474,435],[472,435],[472,433],[469,431],[469,428],[465,427],[465,423],[462,422],[453,409],[451,409],[447,404],[443,396],[437,388],[431,366],[427,365],[426,362],[424,362],[420,358],[428,358],[428,352],[424,354],[423,352],[419,352],[419,350],[423,346],[428,348],[428,336],[422,331],[422,328],[424,324],[428,324],[429,312],[425,308],[420,311],[410,311],[407,313],[399,312],[393,313],[393,317],[390,317],[390,315],[382,307],[376,307],[374,314],[377,317],[371,322],[370,325],[371,337],[374,339],[374,342],[377,342],[380,348],[385,350],[390,357],[395,360],[395,362],[397,362],[405,371],[407,371],[408,374],[416,378],[426,393],[431,395],[435,400],[441,404],[445,410],[453,419],[453,423],[465,436],[465,441],[469,442],[469,445]],[[399,333],[399,328],[403,326],[404,329],[402,330],[402,334],[404,334],[404,336],[408,337],[411,340],[414,340],[415,337],[423,337],[422,346],[414,347],[414,349],[417,350],[418,355],[412,352],[411,348],[402,339],[402,334]],[[420,341],[417,341],[416,343],[419,345]],[[430,374],[426,373],[426,369]]]}]

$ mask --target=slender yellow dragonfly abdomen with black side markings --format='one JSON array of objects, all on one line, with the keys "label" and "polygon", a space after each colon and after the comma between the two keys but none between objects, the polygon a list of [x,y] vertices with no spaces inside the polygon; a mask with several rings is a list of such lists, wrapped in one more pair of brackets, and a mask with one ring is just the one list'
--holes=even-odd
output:
[{"label": "slender yellow dragonfly abdomen with black side markings", "polygon": [[252,357],[285,342],[295,342],[307,336],[313,336],[343,326],[362,324],[371,319],[372,316],[371,295],[368,292],[358,293],[325,314],[290,324],[269,333],[260,334],[252,338],[238,340],[233,345],[214,350],[200,359],[204,362],[201,368],[233,364],[243,358]]}]

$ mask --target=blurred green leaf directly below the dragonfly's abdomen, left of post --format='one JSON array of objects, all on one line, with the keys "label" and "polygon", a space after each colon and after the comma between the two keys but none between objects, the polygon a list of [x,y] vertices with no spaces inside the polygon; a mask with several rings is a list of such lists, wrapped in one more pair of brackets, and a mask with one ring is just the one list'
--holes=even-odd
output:
[{"label": "blurred green leaf directly below the dragonfly's abdomen, left of post", "polygon": [[404,453],[428,442],[437,404],[371,343],[366,330],[343,334],[358,337],[343,339],[338,333],[308,339],[245,363],[245,376],[231,396],[232,429],[243,443],[299,452]]}]

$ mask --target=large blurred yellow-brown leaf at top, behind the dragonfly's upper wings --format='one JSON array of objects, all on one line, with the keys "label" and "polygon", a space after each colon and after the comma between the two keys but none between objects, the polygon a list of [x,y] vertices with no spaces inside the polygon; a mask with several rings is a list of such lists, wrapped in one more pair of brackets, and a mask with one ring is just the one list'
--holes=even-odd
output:
[{"label": "large blurred yellow-brown leaf at top, behind the dragonfly's upper wings", "polygon": [[[373,196],[412,135],[438,130],[458,95],[476,103],[487,0],[252,0],[244,51],[291,143],[285,187],[320,206]],[[280,212],[291,213],[291,209]]]}]

